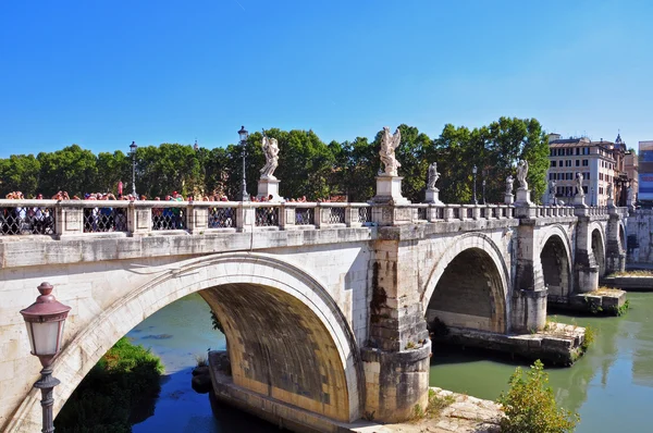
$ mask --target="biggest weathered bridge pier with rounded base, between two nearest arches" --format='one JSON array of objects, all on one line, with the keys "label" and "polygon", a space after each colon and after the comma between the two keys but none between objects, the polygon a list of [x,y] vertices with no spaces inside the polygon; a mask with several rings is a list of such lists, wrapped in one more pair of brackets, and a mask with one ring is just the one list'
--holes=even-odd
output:
[{"label": "biggest weathered bridge pier with rounded base, between two nearest arches", "polygon": [[381,422],[408,420],[429,399],[431,341],[417,289],[417,252],[401,244],[375,243],[370,337],[361,349],[365,413]]}]

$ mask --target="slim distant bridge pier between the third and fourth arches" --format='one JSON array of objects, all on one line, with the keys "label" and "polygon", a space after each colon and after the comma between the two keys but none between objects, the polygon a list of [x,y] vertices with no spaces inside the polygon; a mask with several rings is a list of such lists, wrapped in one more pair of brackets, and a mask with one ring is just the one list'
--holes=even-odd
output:
[{"label": "slim distant bridge pier between the third and fourth arches", "polygon": [[592,251],[588,208],[577,207],[575,213],[578,216],[578,223],[576,224],[574,287],[576,293],[588,293],[599,288],[599,264],[594,258],[594,251]]}]

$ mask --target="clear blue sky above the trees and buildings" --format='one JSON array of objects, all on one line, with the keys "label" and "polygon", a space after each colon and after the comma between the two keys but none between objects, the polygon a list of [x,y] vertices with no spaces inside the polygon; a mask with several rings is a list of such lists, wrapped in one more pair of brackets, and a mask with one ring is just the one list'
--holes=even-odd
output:
[{"label": "clear blue sky above the trees and buildings", "polygon": [[0,2],[0,158],[535,117],[653,139],[649,1]]}]

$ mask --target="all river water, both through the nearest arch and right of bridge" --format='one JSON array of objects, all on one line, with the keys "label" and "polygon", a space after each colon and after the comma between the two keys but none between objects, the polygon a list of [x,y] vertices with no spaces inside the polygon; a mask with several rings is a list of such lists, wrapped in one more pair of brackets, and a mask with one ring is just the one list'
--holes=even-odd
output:
[{"label": "all river water, both through the nearest arch and right of bridge", "polygon": [[[558,404],[580,413],[577,433],[653,431],[648,412],[653,401],[653,294],[629,293],[628,298],[631,308],[621,318],[551,318],[597,332],[594,344],[574,367],[546,369]],[[155,413],[135,424],[135,433],[276,429],[232,409],[219,410],[213,417],[208,396],[190,388],[195,356],[225,347],[224,336],[211,329],[209,307],[199,295],[169,305],[127,335],[150,347],[167,369]],[[435,348],[431,385],[495,399],[507,388],[516,367],[506,357]]]}]

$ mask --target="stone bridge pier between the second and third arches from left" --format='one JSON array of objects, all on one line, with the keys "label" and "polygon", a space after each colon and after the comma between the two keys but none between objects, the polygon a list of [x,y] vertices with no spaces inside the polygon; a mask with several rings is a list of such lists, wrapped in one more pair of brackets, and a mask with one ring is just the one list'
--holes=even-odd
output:
[{"label": "stone bridge pier between the second and third arches from left", "polygon": [[[525,211],[531,208],[515,208]],[[534,209],[534,208],[533,208]],[[537,225],[532,218],[523,218],[517,226],[515,293],[510,309],[510,332],[541,331],[546,324],[546,286],[542,262],[537,247]]]}]

